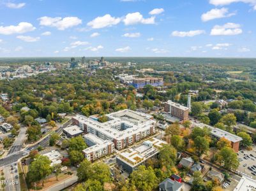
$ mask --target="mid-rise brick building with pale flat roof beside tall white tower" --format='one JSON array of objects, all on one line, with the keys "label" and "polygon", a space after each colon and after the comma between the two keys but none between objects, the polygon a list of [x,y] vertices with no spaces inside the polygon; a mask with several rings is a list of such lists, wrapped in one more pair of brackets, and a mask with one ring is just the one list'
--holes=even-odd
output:
[{"label": "mid-rise brick building with pale flat roof beside tall white tower", "polygon": [[182,106],[181,104],[174,103],[172,101],[167,101],[165,103],[164,111],[170,113],[170,115],[179,118],[182,122],[188,120],[189,108]]}]

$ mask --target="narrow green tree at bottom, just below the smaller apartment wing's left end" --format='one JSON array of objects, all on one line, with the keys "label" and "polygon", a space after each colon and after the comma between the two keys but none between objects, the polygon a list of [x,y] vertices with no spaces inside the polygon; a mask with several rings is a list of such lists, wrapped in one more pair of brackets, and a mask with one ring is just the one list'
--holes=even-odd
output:
[{"label": "narrow green tree at bottom, just below the smaller apartment wing's left end", "polygon": [[91,162],[89,162],[87,159],[84,159],[77,169],[77,177],[79,178],[79,181],[86,181],[90,178],[91,173]]}]

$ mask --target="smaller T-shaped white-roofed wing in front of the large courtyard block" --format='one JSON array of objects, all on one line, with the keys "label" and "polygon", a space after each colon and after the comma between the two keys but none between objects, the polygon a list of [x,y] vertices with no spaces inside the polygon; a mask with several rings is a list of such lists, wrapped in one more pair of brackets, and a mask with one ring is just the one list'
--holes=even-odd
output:
[{"label": "smaller T-shaped white-roofed wing in front of the large courtyard block", "polygon": [[114,152],[114,143],[108,140],[102,140],[93,134],[86,134],[84,141],[88,148],[84,149],[84,157],[93,161]]}]

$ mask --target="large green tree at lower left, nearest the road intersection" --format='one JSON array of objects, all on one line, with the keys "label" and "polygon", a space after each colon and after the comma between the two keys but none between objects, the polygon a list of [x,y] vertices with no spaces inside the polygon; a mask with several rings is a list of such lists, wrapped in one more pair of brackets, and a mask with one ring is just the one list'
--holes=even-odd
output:
[{"label": "large green tree at lower left, nearest the road intersection", "polygon": [[50,160],[46,156],[38,155],[29,166],[28,174],[29,177],[33,177],[32,182],[44,180],[50,173],[52,173],[52,167],[50,167]]}]

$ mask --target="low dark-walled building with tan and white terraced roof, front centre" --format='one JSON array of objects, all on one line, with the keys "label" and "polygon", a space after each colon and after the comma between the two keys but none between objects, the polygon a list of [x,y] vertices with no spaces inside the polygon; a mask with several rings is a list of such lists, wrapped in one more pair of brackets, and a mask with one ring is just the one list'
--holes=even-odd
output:
[{"label": "low dark-walled building with tan and white terraced roof, front centre", "polygon": [[132,173],[141,164],[144,164],[147,159],[156,157],[160,148],[166,145],[167,142],[160,139],[151,138],[139,146],[129,148],[125,152],[119,153],[116,158],[116,162],[128,173]]}]

